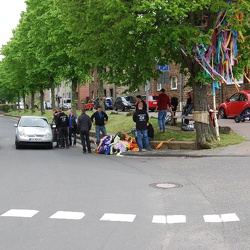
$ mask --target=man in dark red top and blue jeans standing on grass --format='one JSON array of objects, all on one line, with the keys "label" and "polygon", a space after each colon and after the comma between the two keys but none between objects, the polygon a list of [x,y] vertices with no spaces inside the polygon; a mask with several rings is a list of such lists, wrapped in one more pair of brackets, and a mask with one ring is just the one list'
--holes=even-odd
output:
[{"label": "man in dark red top and blue jeans standing on grass", "polygon": [[158,104],[155,109],[155,111],[159,111],[158,124],[160,132],[166,131],[166,116],[167,116],[167,110],[169,109],[170,106],[171,106],[170,98],[168,95],[166,95],[165,89],[162,88],[161,93],[159,94],[158,97]]}]

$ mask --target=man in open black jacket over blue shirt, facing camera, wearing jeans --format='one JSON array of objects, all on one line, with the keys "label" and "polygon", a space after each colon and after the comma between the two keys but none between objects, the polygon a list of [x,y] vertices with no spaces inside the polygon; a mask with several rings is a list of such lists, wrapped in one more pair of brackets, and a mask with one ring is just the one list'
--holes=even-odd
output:
[{"label": "man in open black jacket over blue shirt, facing camera, wearing jeans", "polygon": [[98,147],[101,141],[100,133],[102,132],[102,136],[107,135],[105,125],[108,122],[108,116],[102,111],[101,106],[97,107],[97,111],[91,116],[91,121],[95,125],[96,144]]}]

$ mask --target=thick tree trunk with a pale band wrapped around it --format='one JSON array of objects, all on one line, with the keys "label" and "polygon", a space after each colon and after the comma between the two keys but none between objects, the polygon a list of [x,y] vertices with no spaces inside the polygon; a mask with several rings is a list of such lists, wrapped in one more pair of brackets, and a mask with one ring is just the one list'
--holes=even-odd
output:
[{"label": "thick tree trunk with a pale band wrapped around it", "polygon": [[194,83],[193,96],[197,148],[211,148],[210,143],[216,140],[216,134],[209,118],[206,86]]}]

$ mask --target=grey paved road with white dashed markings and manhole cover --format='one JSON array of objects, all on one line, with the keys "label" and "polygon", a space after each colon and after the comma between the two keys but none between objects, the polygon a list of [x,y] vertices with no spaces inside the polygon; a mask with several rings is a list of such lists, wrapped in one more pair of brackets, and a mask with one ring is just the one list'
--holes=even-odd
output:
[{"label": "grey paved road with white dashed markings and manhole cover", "polygon": [[249,157],[16,150],[13,124],[0,117],[0,249],[249,248]]}]

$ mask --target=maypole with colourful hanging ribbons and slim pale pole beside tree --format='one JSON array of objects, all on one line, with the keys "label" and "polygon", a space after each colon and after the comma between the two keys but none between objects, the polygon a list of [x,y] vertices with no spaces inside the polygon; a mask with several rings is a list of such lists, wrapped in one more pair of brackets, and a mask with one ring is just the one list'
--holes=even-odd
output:
[{"label": "maypole with colourful hanging ribbons and slim pale pole beside tree", "polygon": [[[228,3],[231,4],[231,1]],[[233,67],[238,63],[238,42],[244,41],[240,31],[231,29],[226,20],[227,12],[228,10],[224,10],[218,13],[211,45],[201,44],[194,49],[195,60],[204,69],[206,75],[212,79],[214,125],[217,140],[220,140],[220,137],[216,115],[216,89],[220,88],[221,83],[233,83],[239,90],[239,85],[233,74]],[[239,14],[237,18],[239,23],[242,23],[242,14]]]}]

